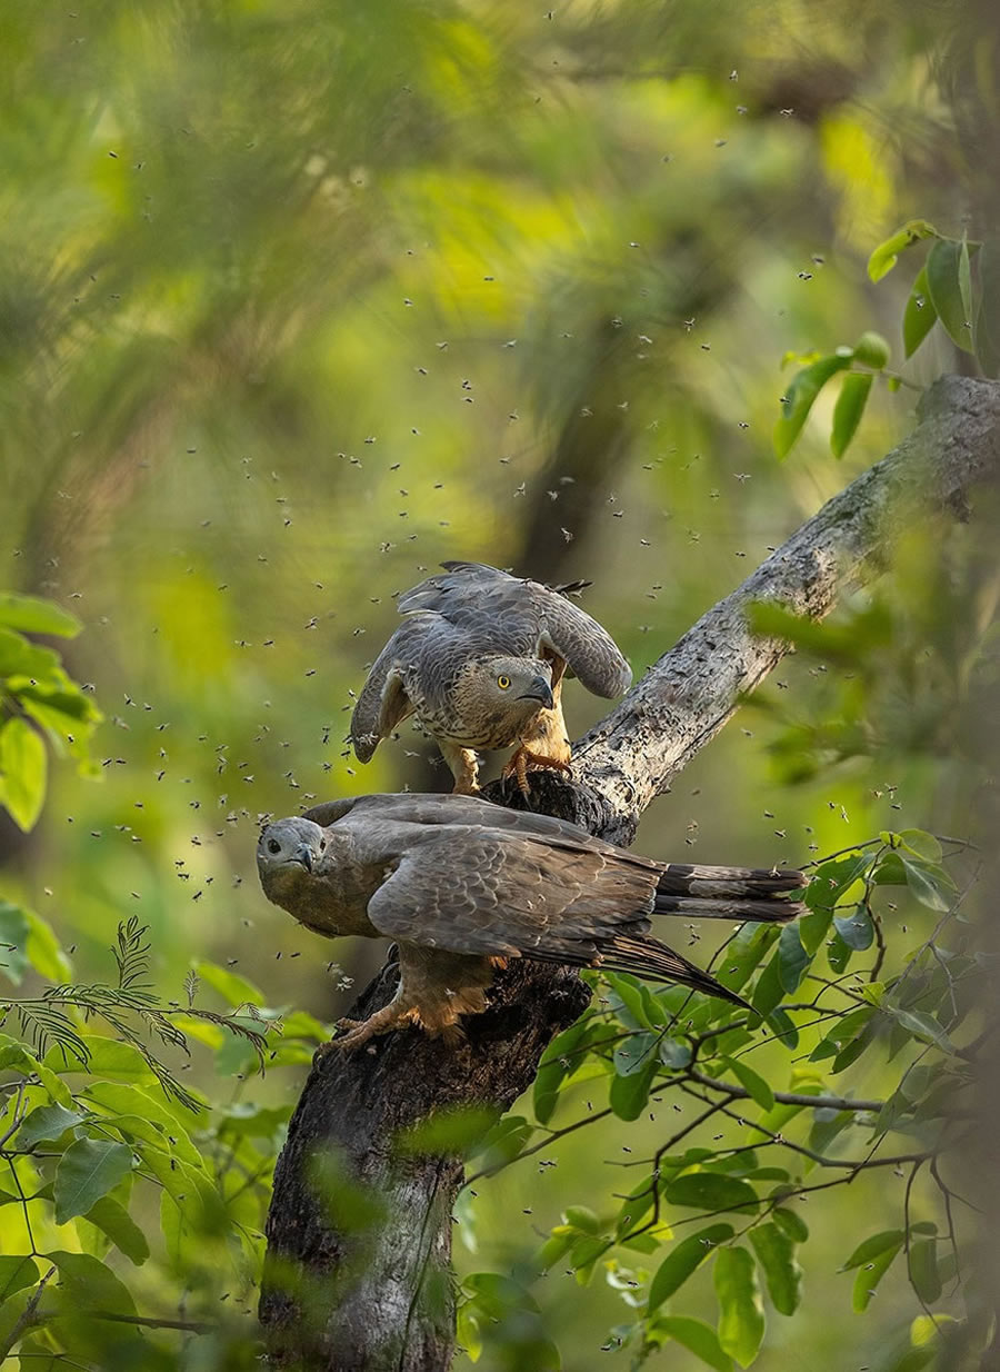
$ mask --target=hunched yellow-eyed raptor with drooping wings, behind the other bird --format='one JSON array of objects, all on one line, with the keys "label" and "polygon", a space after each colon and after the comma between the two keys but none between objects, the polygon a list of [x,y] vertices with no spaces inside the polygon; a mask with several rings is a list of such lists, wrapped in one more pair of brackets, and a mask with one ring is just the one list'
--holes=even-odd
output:
[{"label": "hunched yellow-eyed raptor with drooping wings, behind the other bird", "polygon": [[610,700],[632,674],[612,637],[562,591],[481,563],[444,563],[399,597],[403,623],[376,659],[351,718],[366,763],[409,715],[432,734],[462,794],[479,790],[476,749],[517,752],[503,775],[569,767],[562,678]]}]

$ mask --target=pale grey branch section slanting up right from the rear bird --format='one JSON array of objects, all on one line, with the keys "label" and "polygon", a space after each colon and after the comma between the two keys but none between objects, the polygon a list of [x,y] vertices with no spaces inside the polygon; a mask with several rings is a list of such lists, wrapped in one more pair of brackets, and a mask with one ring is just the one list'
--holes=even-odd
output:
[{"label": "pale grey branch section slanting up right from the rear bird", "polygon": [[575,771],[605,814],[605,838],[632,840],[646,805],[789,650],[782,639],[750,632],[748,605],[778,601],[822,619],[840,595],[886,568],[914,520],[968,519],[974,488],[1000,471],[1000,386],[945,376],[926,392],[919,414],[922,423],[898,447],[702,615],[573,748]]}]

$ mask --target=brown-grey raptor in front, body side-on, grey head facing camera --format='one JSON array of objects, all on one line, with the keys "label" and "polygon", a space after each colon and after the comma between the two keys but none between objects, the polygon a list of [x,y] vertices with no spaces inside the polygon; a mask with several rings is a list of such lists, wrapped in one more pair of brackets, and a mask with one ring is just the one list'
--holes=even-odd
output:
[{"label": "brown-grey raptor in front, body side-on, grey head facing camera", "polygon": [[267,825],[265,895],[328,937],[394,938],[399,989],[335,1040],[353,1048],[412,1021],[454,1034],[486,1010],[509,958],[606,967],[745,1004],[649,934],[650,915],[786,921],[798,871],[654,862],[576,825],[472,796],[361,796]]}]

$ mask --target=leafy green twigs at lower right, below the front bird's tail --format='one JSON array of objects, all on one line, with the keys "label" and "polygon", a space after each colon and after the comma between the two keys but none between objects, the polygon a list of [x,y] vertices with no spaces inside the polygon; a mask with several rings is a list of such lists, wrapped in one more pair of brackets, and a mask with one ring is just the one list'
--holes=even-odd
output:
[{"label": "leafy green twigs at lower right, below the front bird's tail", "polygon": [[[630,975],[597,980],[599,1004],[542,1059],[534,1118],[506,1117],[469,1150],[472,1181],[531,1155],[545,1165],[562,1136],[610,1115],[657,1124],[661,1142],[621,1165],[639,1180],[619,1190],[616,1207],[567,1206],[508,1310],[524,1309],[547,1273],[580,1284],[602,1273],[631,1312],[608,1347],[628,1347],[634,1367],[671,1342],[717,1372],[749,1367],[768,1320],[804,1299],[798,1254],[809,1227],[800,1202],[849,1183],[879,1187],[888,1169],[901,1184],[898,1225],[852,1239],[841,1270],[853,1290],[823,1299],[861,1313],[900,1262],[912,1320],[925,1323],[914,1323],[893,1367],[937,1356],[940,1328],[973,1318],[941,1159],[968,1128],[970,1025],[985,975],[948,863],[942,844],[918,830],[885,831],[819,862],[805,916],[781,929],[743,925],[717,955],[716,975],[749,1011]],[[885,918],[900,907],[936,923],[888,974]],[[850,1089],[861,1059],[885,1084],[879,1099]],[[698,1273],[711,1275],[715,1324],[684,1309]],[[499,1288],[488,1290],[484,1301],[477,1279],[465,1291],[461,1336],[473,1357],[497,1317]]]}]

